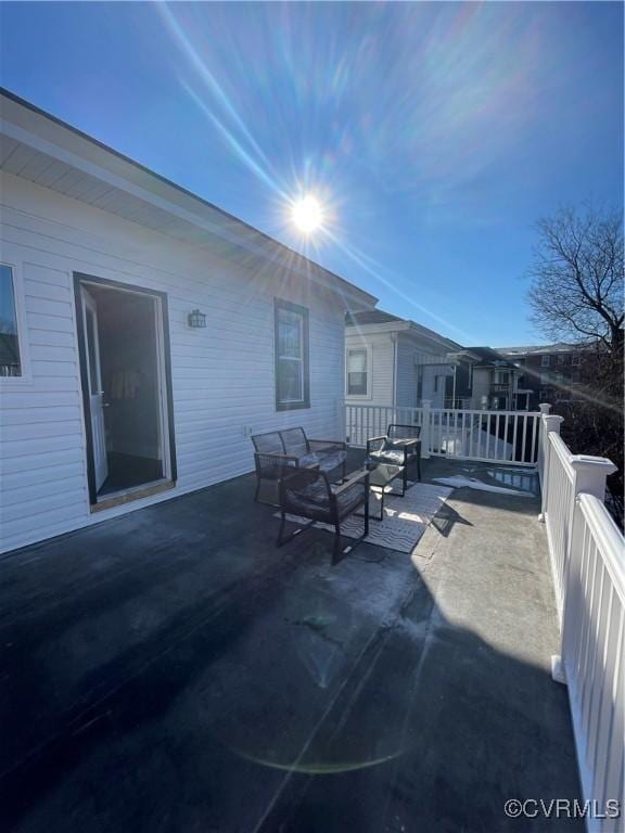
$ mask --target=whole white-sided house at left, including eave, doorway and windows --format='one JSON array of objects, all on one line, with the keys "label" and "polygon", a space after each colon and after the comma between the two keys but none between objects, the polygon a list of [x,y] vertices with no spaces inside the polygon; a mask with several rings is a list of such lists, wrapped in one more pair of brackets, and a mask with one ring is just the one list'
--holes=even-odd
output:
[{"label": "whole white-sided house at left, including eave, doorway and windows", "polygon": [[375,298],[11,94],[0,167],[1,548],[341,430],[345,313]]}]

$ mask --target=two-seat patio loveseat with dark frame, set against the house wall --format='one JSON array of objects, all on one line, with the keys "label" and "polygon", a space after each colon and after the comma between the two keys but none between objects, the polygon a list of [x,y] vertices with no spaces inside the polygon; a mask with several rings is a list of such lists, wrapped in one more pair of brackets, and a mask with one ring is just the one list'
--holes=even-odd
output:
[{"label": "two-seat patio loveseat with dark frame, set against the house wall", "polygon": [[329,475],[340,472],[339,479],[345,479],[347,459],[345,443],[332,439],[309,439],[304,428],[255,434],[252,443],[256,467],[254,499],[258,503],[279,505],[279,482],[283,473],[291,469],[320,469]]}]

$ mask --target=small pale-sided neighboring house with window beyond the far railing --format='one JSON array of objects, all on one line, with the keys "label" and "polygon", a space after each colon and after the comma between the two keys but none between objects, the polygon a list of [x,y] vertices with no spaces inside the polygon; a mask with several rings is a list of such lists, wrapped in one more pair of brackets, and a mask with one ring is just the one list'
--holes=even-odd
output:
[{"label": "small pale-sided neighboring house with window beyond the far railing", "polygon": [[346,317],[345,400],[348,405],[416,408],[422,399],[451,407],[462,384],[449,354],[460,345],[414,321],[382,310]]}]

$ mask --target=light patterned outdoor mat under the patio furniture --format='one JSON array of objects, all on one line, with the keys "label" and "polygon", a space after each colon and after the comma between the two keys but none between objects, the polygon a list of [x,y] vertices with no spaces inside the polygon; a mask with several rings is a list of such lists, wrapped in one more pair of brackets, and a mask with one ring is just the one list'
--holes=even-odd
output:
[{"label": "light patterned outdoor mat under the patio furniture", "polygon": [[[385,547],[397,552],[411,553],[419,539],[428,528],[432,518],[443,507],[454,489],[430,483],[409,484],[403,498],[388,494],[384,498],[384,520],[369,521],[369,535],[365,539],[367,543]],[[371,512],[379,515],[380,508],[373,503],[375,496],[371,496]],[[280,517],[280,513],[276,513]],[[304,517],[286,515],[286,518],[295,524],[308,523]],[[328,529],[333,533],[330,524],[317,523],[317,529]],[[347,538],[359,538],[362,535],[362,518],[358,515],[347,517],[341,524],[341,534]]]}]

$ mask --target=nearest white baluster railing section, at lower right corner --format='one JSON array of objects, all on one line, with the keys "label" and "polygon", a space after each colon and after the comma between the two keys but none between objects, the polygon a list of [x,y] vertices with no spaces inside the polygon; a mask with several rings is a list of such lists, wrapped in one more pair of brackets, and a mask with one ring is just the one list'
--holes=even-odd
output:
[{"label": "nearest white baluster railing section, at lower right corner", "polygon": [[603,503],[579,497],[575,514],[562,665],[586,796],[604,808],[618,800],[621,817],[590,821],[589,830],[623,831],[625,571],[623,536]]}]

